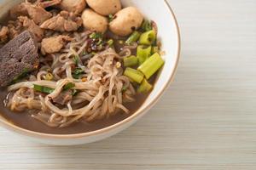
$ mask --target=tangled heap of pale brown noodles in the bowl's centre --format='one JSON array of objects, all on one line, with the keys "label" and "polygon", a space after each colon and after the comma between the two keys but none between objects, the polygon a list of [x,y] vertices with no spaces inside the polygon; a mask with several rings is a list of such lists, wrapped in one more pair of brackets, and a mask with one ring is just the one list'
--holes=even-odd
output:
[{"label": "tangled heap of pale brown noodles in the bowl's centre", "polygon": [[[117,54],[113,48],[95,54],[83,54],[88,33],[74,34],[60,53],[50,54],[48,60],[33,81],[18,82],[9,86],[11,97],[8,107],[11,111],[35,110],[32,117],[49,127],[67,127],[73,122],[86,122],[115,115],[118,111],[129,113],[124,101],[134,101],[135,90],[130,80],[123,75],[123,69],[117,66],[119,59],[131,54],[129,48]],[[79,56],[79,67],[84,70],[82,79],[73,78],[73,56]],[[84,65],[84,64],[85,65]],[[46,81],[44,76],[51,70],[54,80]],[[63,87],[72,82],[73,90],[79,94],[67,105],[55,105],[53,99],[61,95]],[[53,88],[51,94],[41,94],[33,90],[34,84]],[[122,89],[127,89],[123,91]]]}]

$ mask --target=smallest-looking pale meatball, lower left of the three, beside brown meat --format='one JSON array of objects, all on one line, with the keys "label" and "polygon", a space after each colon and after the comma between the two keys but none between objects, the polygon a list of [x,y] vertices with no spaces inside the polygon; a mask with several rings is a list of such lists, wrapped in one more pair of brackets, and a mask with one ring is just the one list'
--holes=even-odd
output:
[{"label": "smallest-looking pale meatball, lower left of the three, beside brown meat", "polygon": [[84,27],[91,31],[104,33],[108,29],[108,19],[91,9],[84,10],[82,20]]}]

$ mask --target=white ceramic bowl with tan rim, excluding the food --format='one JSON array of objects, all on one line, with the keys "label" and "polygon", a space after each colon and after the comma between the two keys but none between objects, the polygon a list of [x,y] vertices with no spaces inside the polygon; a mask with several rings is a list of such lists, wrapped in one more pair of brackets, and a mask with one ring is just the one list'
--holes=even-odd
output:
[{"label": "white ceramic bowl with tan rim, excluding the food", "polygon": [[[9,8],[20,0],[0,0],[0,16],[7,14]],[[154,90],[148,96],[148,99],[136,113],[125,120],[90,133],[78,133],[68,135],[57,135],[47,133],[37,133],[17,127],[6,121],[0,114],[0,124],[10,131],[19,133],[23,137],[36,140],[44,144],[72,145],[86,144],[97,140],[106,139],[115,133],[119,133],[131,124],[137,122],[153,105],[156,104],[160,96],[164,94],[168,85],[172,82],[180,53],[180,37],[177,26],[177,20],[166,0],[122,0],[123,6],[135,6],[150,20],[154,20],[159,27],[159,37],[162,42],[162,49],[166,52],[163,56],[166,60],[162,71],[160,71]],[[154,125],[153,125],[154,126]]]}]

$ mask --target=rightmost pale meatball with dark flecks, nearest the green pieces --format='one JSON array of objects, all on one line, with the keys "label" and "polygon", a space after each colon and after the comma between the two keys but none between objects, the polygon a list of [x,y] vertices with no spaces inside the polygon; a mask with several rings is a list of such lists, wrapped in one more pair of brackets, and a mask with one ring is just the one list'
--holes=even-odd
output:
[{"label": "rightmost pale meatball with dark flecks, nearest the green pieces", "polygon": [[137,8],[127,7],[120,10],[109,23],[109,29],[118,36],[128,36],[143,23],[143,14]]}]

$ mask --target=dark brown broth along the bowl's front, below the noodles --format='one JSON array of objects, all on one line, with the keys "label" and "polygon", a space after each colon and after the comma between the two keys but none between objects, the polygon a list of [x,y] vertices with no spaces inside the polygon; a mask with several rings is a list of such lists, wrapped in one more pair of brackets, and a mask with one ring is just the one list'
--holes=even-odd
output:
[{"label": "dark brown broth along the bowl's front, below the noodles", "polygon": [[6,108],[3,105],[3,100],[5,99],[6,95],[6,90],[0,91],[0,111],[4,118],[6,118],[9,122],[14,123],[16,126],[25,128],[27,130],[36,131],[39,133],[53,134],[88,133],[91,131],[101,129],[103,127],[108,127],[131,116],[140,108],[141,105],[143,105],[143,102],[148,97],[148,94],[140,94],[137,95],[136,102],[126,103],[125,106],[131,111],[129,115],[126,115],[125,113],[119,113],[115,116],[111,116],[109,118],[95,122],[77,122],[75,124],[72,124],[70,127],[58,128],[48,127],[44,123],[32,118],[32,116],[26,112],[10,111],[9,108]]}]

